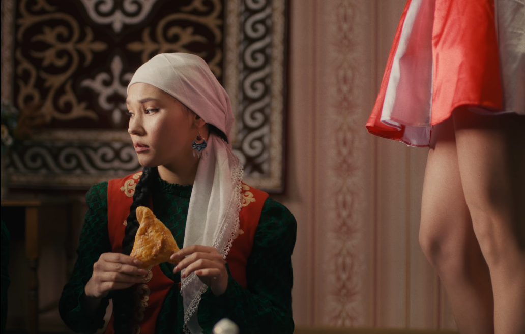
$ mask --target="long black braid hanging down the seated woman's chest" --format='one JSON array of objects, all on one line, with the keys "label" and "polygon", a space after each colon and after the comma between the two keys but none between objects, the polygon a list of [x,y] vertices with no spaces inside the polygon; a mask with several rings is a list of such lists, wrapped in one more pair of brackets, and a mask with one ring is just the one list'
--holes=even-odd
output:
[{"label": "long black braid hanging down the seated woman's chest", "polygon": [[[133,203],[130,206],[130,214],[126,220],[127,225],[124,238],[122,239],[123,254],[131,254],[133,243],[135,242],[135,235],[137,235],[137,230],[139,229],[136,210],[138,207],[149,207],[153,180],[158,176],[159,171],[156,167],[145,167],[135,187]],[[113,297],[113,312],[115,314],[113,327],[116,334],[131,333],[129,324],[134,304],[131,288],[115,290]]]}]

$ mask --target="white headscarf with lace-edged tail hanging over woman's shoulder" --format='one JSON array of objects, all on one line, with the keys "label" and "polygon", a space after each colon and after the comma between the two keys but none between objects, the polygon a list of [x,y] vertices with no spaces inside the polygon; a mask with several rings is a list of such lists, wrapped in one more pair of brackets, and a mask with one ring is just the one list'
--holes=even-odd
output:
[{"label": "white headscarf with lace-edged tail hanging over woman's shoulder", "polygon": [[[163,53],[144,63],[133,75],[132,84],[148,83],[172,95],[215,125],[229,144],[210,134],[206,154],[199,161],[190,197],[183,247],[200,244],[216,247],[225,259],[239,229],[243,167],[232,151],[230,132],[234,123],[229,96],[206,62],[188,53]],[[206,285],[195,273],[182,279],[184,330],[202,333],[197,307]]]}]

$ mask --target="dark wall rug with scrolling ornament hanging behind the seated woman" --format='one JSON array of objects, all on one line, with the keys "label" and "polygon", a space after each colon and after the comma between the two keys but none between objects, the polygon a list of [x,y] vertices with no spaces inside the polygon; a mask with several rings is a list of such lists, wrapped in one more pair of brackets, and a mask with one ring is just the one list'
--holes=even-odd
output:
[{"label": "dark wall rug with scrolling ornament hanging behind the seated woman", "polygon": [[189,52],[232,99],[245,181],[284,187],[284,0],[2,0],[2,100],[46,125],[10,152],[11,187],[86,188],[140,169],[127,85],[143,62]]}]

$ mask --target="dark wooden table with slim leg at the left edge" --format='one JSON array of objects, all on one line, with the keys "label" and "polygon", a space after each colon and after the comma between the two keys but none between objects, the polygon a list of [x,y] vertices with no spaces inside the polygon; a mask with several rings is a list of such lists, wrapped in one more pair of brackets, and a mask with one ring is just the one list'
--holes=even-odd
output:
[{"label": "dark wooden table with slim leg at the left edge", "polygon": [[[66,254],[68,257],[72,256],[73,245],[71,238],[71,224],[72,224],[72,204],[74,201],[70,198],[8,198],[0,201],[0,207],[18,207],[25,208],[25,249],[26,257],[29,266],[29,282],[28,282],[28,321],[27,330],[29,334],[37,334],[38,332],[38,256],[39,256],[39,224],[43,217],[41,211],[46,207],[64,207],[67,211],[66,217],[68,221],[65,222],[67,229],[66,233],[69,238],[66,242]],[[68,258],[69,260],[69,258]]]}]

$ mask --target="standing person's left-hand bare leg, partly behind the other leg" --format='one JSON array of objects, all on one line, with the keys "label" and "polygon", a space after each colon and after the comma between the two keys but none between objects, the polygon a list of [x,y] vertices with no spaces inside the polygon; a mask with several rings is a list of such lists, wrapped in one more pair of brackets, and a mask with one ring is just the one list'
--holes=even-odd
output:
[{"label": "standing person's left-hand bare leg, partly behind the other leg", "polygon": [[451,118],[432,130],[419,243],[445,286],[459,331],[493,333],[490,275],[461,187]]}]

